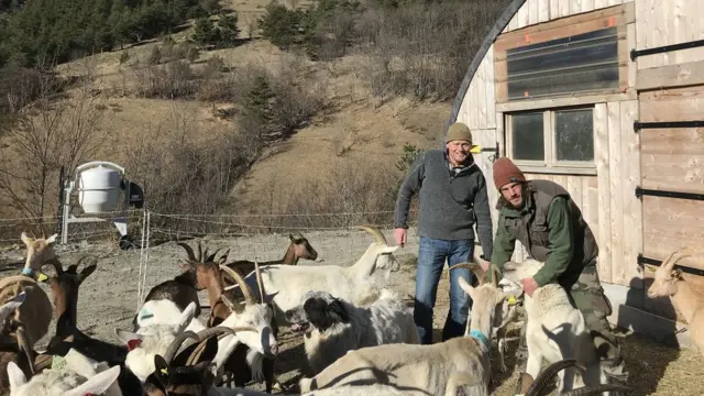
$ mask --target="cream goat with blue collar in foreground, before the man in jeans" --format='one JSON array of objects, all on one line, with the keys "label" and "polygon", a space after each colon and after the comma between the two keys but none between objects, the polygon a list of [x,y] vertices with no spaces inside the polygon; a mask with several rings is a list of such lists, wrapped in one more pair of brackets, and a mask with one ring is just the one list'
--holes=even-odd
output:
[{"label": "cream goat with blue collar in foreground, before the man in jeans", "polygon": [[[352,384],[386,384],[410,394],[442,395],[449,383],[486,393],[491,376],[490,339],[496,306],[512,294],[486,283],[480,264],[458,264],[477,275],[480,286],[460,279],[474,301],[465,337],[430,345],[385,344],[348,352],[312,378],[300,380],[302,393]],[[495,268],[495,267],[493,267]],[[451,377],[454,376],[451,382]]]}]

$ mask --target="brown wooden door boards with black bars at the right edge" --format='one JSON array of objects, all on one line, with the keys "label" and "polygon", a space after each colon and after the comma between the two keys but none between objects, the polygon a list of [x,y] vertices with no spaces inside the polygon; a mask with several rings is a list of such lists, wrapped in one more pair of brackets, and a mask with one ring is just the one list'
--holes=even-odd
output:
[{"label": "brown wooden door boards with black bars at the right edge", "polygon": [[[704,86],[640,94],[640,121],[704,119]],[[658,190],[704,193],[704,130],[644,129],[641,140],[642,187]],[[704,268],[704,201],[642,197],[644,254],[663,260],[683,246],[695,249],[680,264]]]}]

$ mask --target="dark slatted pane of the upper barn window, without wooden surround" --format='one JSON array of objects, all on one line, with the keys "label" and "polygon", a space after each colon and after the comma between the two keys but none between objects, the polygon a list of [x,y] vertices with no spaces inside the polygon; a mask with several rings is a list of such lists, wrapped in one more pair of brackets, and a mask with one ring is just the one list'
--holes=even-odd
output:
[{"label": "dark slatted pane of the upper barn window, without wooden surround", "polygon": [[618,88],[618,32],[602,29],[506,52],[508,100]]}]

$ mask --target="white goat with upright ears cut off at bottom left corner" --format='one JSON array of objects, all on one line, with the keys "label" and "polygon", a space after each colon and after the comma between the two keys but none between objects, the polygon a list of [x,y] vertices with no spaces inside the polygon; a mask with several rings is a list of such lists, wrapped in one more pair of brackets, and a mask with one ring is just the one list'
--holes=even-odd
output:
[{"label": "white goat with upright ears cut off at bottom left corner", "polygon": [[29,382],[14,362],[8,364],[11,396],[121,396],[117,383],[120,366],[96,363],[72,349],[66,356],[54,356],[52,369],[34,375]]}]

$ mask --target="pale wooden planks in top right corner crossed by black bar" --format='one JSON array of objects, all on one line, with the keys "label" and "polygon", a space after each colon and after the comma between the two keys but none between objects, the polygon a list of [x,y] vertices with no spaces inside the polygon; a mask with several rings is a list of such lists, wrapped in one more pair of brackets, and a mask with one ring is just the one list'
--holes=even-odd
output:
[{"label": "pale wooden planks in top right corner crossed by black bar", "polygon": [[[704,40],[701,0],[638,0],[636,3],[636,48]],[[704,47],[644,55],[638,69],[704,61]]]}]

